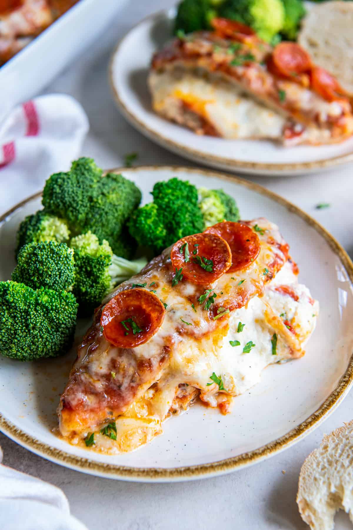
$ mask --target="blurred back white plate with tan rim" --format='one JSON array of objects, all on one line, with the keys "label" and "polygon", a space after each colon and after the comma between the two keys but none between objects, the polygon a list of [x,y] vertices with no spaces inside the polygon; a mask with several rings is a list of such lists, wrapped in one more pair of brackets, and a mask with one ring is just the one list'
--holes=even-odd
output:
[{"label": "blurred back white plate with tan rim", "polygon": [[153,112],[147,87],[149,65],[153,52],[171,38],[174,16],[172,9],[142,20],[112,55],[109,77],[114,100],[142,134],[189,160],[248,174],[305,174],[353,160],[353,138],[336,145],[289,148],[267,140],[226,140],[196,135]]}]

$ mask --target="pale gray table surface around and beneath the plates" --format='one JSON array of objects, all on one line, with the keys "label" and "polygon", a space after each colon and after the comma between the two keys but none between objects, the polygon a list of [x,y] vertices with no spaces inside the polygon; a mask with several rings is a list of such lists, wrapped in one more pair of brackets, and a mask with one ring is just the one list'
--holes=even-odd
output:
[{"label": "pale gray table surface around and beneath the plates", "polygon": [[[151,143],[126,123],[115,108],[107,83],[107,63],[116,41],[143,16],[170,5],[173,5],[170,0],[131,2],[117,14],[96,45],[43,92],[67,93],[83,105],[90,121],[90,132],[82,154],[94,157],[102,167],[123,165],[124,155],[132,151],[138,151],[140,164],[192,165]],[[312,176],[281,179],[258,176],[251,180],[276,191],[318,219],[352,255],[352,170],[351,165]],[[5,194],[7,185],[11,183],[2,182]],[[21,193],[25,197],[34,191],[37,189],[29,182],[28,188]],[[330,202],[331,207],[317,210],[318,202]],[[307,526],[295,502],[301,465],[320,444],[324,433],[352,419],[352,409],[351,392],[320,428],[266,462],[213,479],[174,484],[96,478],[43,460],[2,434],[0,445],[6,465],[62,488],[72,513],[89,530],[98,527],[179,530],[180,525],[186,530],[195,527],[304,529]],[[351,528],[345,514],[336,516],[336,528]]]}]

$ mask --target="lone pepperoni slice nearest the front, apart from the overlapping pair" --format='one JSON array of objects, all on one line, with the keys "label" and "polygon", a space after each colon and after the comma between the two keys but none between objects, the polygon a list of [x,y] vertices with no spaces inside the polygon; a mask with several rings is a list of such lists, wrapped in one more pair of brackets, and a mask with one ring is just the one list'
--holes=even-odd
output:
[{"label": "lone pepperoni slice nearest the front, apart from the overlapping pair", "polygon": [[135,348],[147,342],[160,328],[165,307],[146,289],[129,289],[114,296],[101,316],[103,335],[120,348]]}]

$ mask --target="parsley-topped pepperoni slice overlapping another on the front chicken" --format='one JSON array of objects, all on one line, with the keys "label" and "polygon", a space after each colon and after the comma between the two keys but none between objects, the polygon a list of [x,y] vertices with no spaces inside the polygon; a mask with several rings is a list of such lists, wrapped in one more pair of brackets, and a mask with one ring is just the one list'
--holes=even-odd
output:
[{"label": "parsley-topped pepperoni slice overlapping another on the front chicken", "polygon": [[177,241],[170,253],[174,269],[193,284],[209,285],[232,263],[227,241],[218,234],[188,235]]}]

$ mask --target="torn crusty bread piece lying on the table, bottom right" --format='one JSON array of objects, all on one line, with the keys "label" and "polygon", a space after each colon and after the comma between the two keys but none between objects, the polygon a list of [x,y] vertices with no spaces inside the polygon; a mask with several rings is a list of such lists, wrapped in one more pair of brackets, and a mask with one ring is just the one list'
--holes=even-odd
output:
[{"label": "torn crusty bread piece lying on the table, bottom right", "polygon": [[312,530],[332,530],[339,509],[353,523],[353,420],[325,435],[306,458],[299,476],[297,504]]}]

